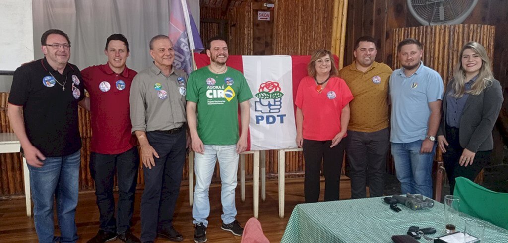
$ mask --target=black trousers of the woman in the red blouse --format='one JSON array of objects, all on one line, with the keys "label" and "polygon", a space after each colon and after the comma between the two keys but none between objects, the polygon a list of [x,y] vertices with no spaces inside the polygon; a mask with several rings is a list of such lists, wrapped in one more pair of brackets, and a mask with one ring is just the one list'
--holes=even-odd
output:
[{"label": "black trousers of the woman in the red blouse", "polygon": [[331,140],[303,140],[305,159],[304,194],[305,202],[317,202],[321,191],[321,164],[325,174],[325,201],[339,200],[340,169],[344,156],[345,141],[330,148]]}]

